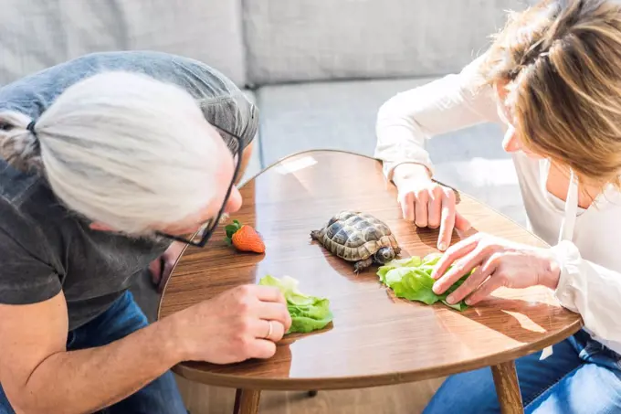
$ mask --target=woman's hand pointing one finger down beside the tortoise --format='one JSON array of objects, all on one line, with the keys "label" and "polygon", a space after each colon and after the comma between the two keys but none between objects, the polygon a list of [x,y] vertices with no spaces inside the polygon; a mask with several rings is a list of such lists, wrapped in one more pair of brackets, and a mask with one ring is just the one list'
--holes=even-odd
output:
[{"label": "woman's hand pointing one finger down beside the tortoise", "polygon": [[[451,188],[433,181],[422,165],[404,167],[407,169],[395,169],[394,178],[403,218],[419,228],[440,228],[437,249],[444,251],[450,245],[453,229],[467,231],[470,223],[458,213]],[[421,168],[425,168],[424,173]]]}]

